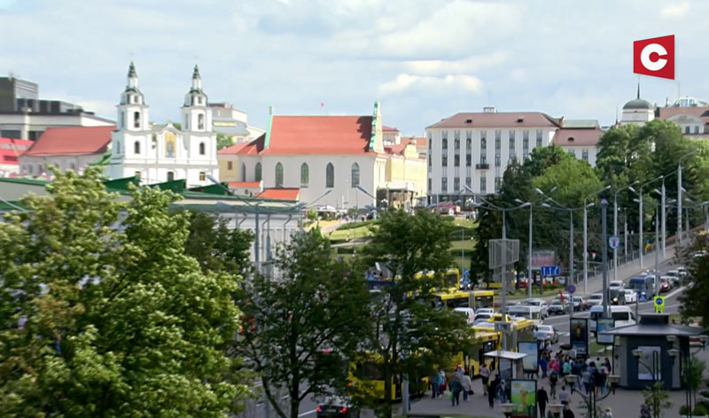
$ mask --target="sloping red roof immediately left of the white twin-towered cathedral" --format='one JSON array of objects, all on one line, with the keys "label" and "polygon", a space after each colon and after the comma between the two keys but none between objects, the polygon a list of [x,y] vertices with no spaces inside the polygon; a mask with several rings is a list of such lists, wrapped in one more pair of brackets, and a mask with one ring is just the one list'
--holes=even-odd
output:
[{"label": "sloping red roof immediately left of the white twin-towered cathedral", "polygon": [[51,155],[103,154],[111,143],[111,132],[116,127],[49,128],[25,155],[46,157]]}]

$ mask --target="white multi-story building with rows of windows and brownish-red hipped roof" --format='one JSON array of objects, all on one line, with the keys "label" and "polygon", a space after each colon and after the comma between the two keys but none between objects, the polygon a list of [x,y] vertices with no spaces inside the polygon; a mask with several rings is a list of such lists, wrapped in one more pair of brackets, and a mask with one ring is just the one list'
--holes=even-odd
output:
[{"label": "white multi-story building with rows of windows and brownish-red hipped roof", "polygon": [[457,113],[426,128],[428,196],[432,203],[466,201],[500,189],[508,164],[552,143],[563,118],[541,112]]}]

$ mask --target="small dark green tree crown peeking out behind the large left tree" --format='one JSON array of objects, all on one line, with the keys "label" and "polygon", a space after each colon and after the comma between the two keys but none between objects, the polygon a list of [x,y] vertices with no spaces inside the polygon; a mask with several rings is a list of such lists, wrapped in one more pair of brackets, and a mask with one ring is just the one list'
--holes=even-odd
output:
[{"label": "small dark green tree crown peeking out behind the large left tree", "polygon": [[227,220],[212,213],[190,212],[190,235],[184,252],[197,259],[199,267],[208,272],[238,272],[251,270],[249,249],[253,233],[246,229],[230,229]]}]

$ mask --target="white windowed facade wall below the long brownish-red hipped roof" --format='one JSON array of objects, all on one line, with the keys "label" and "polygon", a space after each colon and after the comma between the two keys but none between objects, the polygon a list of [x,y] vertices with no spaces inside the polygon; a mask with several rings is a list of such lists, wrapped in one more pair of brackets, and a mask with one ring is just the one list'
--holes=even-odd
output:
[{"label": "white windowed facade wall below the long brownish-red hipped roof", "polygon": [[[426,128],[428,136],[428,196],[432,197],[432,202],[439,202],[441,199],[456,200],[458,192],[464,190],[466,180],[470,178],[469,186],[475,193],[486,194],[495,193],[495,178],[502,182],[504,171],[510,163],[510,158],[517,158],[522,161],[526,155],[532,153],[537,146],[549,146],[557,132],[557,127],[543,128]],[[537,141],[537,131],[541,131],[540,141]],[[499,131],[500,148],[495,148],[495,134]],[[527,148],[524,148],[525,131],[528,132]],[[460,164],[455,166],[456,132],[460,139]],[[467,138],[470,133],[471,138],[471,165],[466,166]],[[513,134],[512,134],[513,133]],[[510,149],[510,137],[514,135],[514,149]],[[486,139],[486,148],[481,147],[483,136]],[[448,138],[448,149],[442,148],[443,138]],[[443,155],[448,156],[448,165],[443,165]],[[499,161],[497,156],[499,155]],[[499,162],[499,165],[496,164]],[[483,168],[487,164],[488,168]],[[455,179],[459,179],[460,185],[455,188]],[[447,188],[443,189],[443,180],[447,180]],[[483,187],[484,185],[484,187]],[[461,194],[470,196],[467,190]]]}]

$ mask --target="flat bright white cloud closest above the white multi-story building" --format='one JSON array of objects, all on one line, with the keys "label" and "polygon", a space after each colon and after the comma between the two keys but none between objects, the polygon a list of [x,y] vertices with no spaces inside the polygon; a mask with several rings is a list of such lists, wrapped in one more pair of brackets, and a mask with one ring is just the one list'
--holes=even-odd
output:
[{"label": "flat bright white cloud closest above the white multi-story building", "polygon": [[430,94],[440,92],[441,89],[455,90],[458,93],[479,94],[482,89],[482,82],[472,75],[465,74],[448,74],[444,77],[399,74],[395,80],[379,86],[379,94],[383,96],[395,95],[412,89],[427,91]]}]

